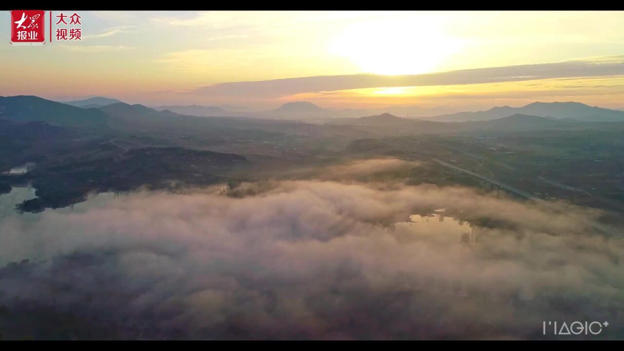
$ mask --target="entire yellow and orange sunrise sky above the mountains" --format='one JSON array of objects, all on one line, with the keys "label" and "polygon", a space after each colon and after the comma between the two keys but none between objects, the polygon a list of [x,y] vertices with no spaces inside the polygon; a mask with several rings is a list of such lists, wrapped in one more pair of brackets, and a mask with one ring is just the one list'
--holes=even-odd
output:
[{"label": "entire yellow and orange sunrise sky above the mountains", "polygon": [[[621,11],[52,10],[54,22],[61,12],[82,17],[82,40],[0,46],[0,95],[257,110],[624,109]],[[0,36],[10,22],[0,16]]]}]

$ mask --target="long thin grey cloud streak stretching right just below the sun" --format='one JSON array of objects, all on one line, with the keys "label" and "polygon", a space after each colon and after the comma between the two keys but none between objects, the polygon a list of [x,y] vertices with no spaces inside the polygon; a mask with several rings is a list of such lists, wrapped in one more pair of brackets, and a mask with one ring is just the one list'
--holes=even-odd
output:
[{"label": "long thin grey cloud streak stretching right just below the sun", "polygon": [[276,98],[305,92],[341,91],[371,87],[446,86],[565,77],[616,76],[622,74],[624,74],[624,56],[615,56],[404,76],[351,74],[272,79],[267,81],[226,82],[198,87],[194,91],[189,92],[189,94],[211,97]]}]

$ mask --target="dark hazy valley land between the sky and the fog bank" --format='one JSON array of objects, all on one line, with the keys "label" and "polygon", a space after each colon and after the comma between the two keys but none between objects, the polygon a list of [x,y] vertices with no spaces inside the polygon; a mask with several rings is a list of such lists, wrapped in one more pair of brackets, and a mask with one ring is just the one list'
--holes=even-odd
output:
[{"label": "dark hazy valley land between the sky and the fog bank", "polygon": [[[23,117],[24,101],[58,111]],[[90,192],[257,181],[289,169],[374,157],[422,162],[407,177],[396,175],[406,184],[504,191],[496,185],[501,182],[518,189],[515,195],[605,209],[613,213],[605,215],[607,222],[617,223],[624,212],[624,148],[613,147],[624,144],[624,122],[522,114],[432,122],[382,114],[319,124],[185,116],[114,101],[86,109],[37,97],[0,102],[7,111],[0,119],[0,171],[37,165],[26,174],[0,175],[4,192],[24,184],[36,189],[36,199],[16,204],[25,212],[75,204]],[[85,124],[91,116],[99,116],[97,123]]]}]

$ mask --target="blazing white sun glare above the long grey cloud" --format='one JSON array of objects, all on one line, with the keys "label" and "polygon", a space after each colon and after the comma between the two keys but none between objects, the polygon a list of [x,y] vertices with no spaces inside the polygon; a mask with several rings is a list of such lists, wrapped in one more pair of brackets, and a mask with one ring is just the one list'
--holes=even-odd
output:
[{"label": "blazing white sun glare above the long grey cloud", "polygon": [[432,72],[460,48],[459,40],[424,17],[351,24],[329,50],[363,72],[396,75]]}]

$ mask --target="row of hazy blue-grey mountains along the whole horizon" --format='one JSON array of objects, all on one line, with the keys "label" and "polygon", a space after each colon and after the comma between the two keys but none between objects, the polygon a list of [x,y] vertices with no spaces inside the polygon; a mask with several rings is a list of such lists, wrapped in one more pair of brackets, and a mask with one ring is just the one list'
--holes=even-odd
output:
[{"label": "row of hazy blue-grey mountains along the whole horizon", "polygon": [[[530,111],[534,114],[517,111]],[[310,102],[291,102],[265,113],[266,117],[273,116],[276,119],[296,120],[308,119],[306,117],[310,116],[329,116],[331,112]],[[507,113],[511,114],[508,115]],[[545,116],[538,116],[537,114]],[[401,132],[460,132],[494,129],[527,131],[569,127],[602,128],[605,127],[604,123],[594,121],[624,121],[623,115],[624,111],[590,107],[578,102],[553,102],[534,103],[517,108],[495,107],[480,112],[459,112],[452,115],[437,116],[434,121],[431,119],[408,119],[388,113],[359,118],[326,117],[324,121],[328,126],[353,126],[359,129],[366,127],[368,130],[373,130],[371,127],[375,127],[377,131],[381,132],[389,132],[391,129]],[[245,129],[247,129],[250,126],[250,121],[255,120],[258,123],[263,121],[263,119],[188,116],[169,109],[156,111],[140,104],[130,105],[124,102],[107,104],[98,108],[82,108],[36,96],[0,97],[0,118],[18,122],[42,121],[52,126],[61,127],[110,127],[124,131],[150,132],[199,130],[218,132],[218,126],[246,126]],[[318,118],[322,119],[322,117]],[[485,118],[490,119],[482,120]],[[469,121],[448,122],[444,119],[469,119]],[[264,123],[268,122],[270,121]],[[624,124],[622,125],[624,126]],[[619,128],[620,124],[617,126]]]}]

